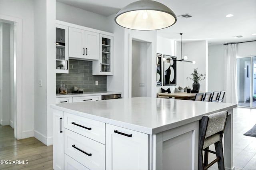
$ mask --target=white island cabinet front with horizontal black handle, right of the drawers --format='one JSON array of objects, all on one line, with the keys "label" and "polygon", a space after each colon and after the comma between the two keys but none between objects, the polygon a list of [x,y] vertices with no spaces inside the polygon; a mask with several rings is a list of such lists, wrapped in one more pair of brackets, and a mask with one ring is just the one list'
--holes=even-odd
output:
[{"label": "white island cabinet front with horizontal black handle, right of the drawers", "polygon": [[148,170],[148,134],[106,124],[106,170]]}]

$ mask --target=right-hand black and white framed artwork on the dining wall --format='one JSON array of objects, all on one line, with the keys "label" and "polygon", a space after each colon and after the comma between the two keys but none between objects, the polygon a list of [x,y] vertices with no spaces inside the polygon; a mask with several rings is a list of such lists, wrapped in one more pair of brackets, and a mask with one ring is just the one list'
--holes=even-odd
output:
[{"label": "right-hand black and white framed artwork on the dining wall", "polygon": [[164,55],[164,58],[164,85],[176,85],[176,61],[172,59],[177,57]]}]

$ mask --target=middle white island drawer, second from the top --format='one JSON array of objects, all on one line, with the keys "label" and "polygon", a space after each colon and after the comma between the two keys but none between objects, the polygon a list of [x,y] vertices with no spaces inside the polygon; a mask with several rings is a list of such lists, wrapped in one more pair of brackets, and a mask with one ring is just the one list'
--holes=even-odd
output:
[{"label": "middle white island drawer, second from the top", "polygon": [[105,169],[105,145],[66,128],[64,153],[91,170]]}]

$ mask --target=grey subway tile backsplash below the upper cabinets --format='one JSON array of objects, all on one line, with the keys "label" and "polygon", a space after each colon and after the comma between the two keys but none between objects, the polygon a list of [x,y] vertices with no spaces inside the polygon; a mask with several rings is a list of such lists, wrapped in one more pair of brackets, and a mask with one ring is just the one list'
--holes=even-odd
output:
[{"label": "grey subway tile backsplash below the upper cabinets", "polygon": [[[56,87],[63,83],[68,89],[68,93],[73,91],[73,87],[84,89],[84,92],[106,91],[107,76],[92,75],[92,61],[82,61],[69,59],[68,74],[56,74]],[[98,85],[95,81],[98,80]],[[58,90],[56,90],[58,93]]]}]

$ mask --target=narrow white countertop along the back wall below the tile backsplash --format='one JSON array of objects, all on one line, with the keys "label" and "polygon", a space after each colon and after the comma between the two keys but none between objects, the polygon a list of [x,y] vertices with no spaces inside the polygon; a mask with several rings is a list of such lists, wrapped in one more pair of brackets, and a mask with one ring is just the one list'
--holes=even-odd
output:
[{"label": "narrow white countertop along the back wall below the tile backsplash", "polygon": [[68,93],[66,95],[56,94],[56,98],[60,97],[82,97],[82,96],[95,96],[95,95],[116,95],[121,94],[121,92],[115,91],[94,91],[94,92],[84,92],[84,93]]}]

